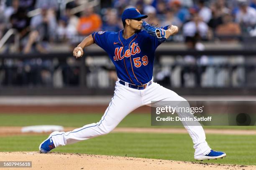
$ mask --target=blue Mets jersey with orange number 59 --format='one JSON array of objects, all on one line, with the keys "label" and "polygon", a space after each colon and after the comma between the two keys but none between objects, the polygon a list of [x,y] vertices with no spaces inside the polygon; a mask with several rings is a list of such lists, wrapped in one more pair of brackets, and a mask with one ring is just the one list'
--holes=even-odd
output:
[{"label": "blue Mets jersey with orange number 59", "polygon": [[[169,25],[161,27],[167,30]],[[145,30],[125,39],[118,32],[93,32],[94,42],[105,50],[115,65],[118,78],[134,85],[143,85],[153,77],[154,55],[161,44]]]}]

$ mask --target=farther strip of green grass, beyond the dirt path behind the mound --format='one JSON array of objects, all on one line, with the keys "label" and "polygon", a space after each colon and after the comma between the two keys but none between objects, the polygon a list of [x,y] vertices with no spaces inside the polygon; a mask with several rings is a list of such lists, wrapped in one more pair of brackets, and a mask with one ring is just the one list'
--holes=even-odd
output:
[{"label": "farther strip of green grass, beyond the dirt path behind the mound", "polygon": [[[0,114],[0,126],[62,125],[82,127],[98,122],[103,114]],[[177,128],[180,126],[151,126],[150,114],[129,114],[118,127]],[[219,129],[256,129],[256,126],[204,126]]]}]

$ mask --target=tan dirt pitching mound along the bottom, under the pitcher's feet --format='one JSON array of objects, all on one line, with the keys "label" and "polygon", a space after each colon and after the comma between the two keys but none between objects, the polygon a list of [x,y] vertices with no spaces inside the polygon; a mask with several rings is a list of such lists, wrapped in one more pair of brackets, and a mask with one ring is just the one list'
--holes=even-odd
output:
[{"label": "tan dirt pitching mound along the bottom, under the pitcher's feet", "polygon": [[[172,160],[70,153],[5,152],[0,161],[32,161],[28,170],[255,170],[255,166],[191,163]],[[2,169],[2,168],[1,168]],[[8,169],[8,168],[3,168]],[[13,169],[13,168],[9,168]],[[15,168],[16,169],[16,168]]]}]

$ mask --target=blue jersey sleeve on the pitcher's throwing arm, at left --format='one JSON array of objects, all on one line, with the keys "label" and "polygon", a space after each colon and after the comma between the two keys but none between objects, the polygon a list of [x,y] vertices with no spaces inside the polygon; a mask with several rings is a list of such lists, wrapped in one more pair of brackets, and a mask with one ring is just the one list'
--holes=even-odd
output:
[{"label": "blue jersey sleeve on the pitcher's throwing arm, at left", "polygon": [[108,36],[111,32],[109,31],[98,31],[93,32],[92,37],[94,40],[94,43],[100,46],[103,50],[107,51],[108,49]]}]

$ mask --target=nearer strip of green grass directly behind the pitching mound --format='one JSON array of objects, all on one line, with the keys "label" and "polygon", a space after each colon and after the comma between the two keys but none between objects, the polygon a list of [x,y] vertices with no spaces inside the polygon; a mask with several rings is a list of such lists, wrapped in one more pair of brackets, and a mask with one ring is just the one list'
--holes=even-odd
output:
[{"label": "nearer strip of green grass directly behind the pitching mound", "polygon": [[[1,137],[0,152],[35,151],[45,138],[47,135]],[[213,149],[225,151],[227,157],[205,163],[256,165],[255,135],[207,135],[207,142]],[[195,161],[188,134],[110,133],[53,151]]]}]

